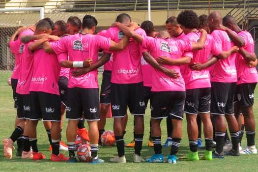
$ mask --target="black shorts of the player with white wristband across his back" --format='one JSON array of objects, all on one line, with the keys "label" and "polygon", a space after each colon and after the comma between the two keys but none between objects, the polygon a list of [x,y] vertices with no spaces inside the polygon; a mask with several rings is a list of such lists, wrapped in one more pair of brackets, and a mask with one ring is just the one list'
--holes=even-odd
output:
[{"label": "black shorts of the player with white wristband across his back", "polygon": [[99,89],[68,88],[66,118],[79,120],[82,114],[88,121],[99,120]]}]

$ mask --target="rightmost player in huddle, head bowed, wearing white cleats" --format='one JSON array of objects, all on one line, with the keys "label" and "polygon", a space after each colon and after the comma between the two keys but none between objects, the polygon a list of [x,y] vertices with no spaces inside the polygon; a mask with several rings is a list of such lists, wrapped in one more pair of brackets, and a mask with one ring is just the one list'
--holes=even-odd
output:
[{"label": "rightmost player in huddle, head bowed, wearing white cleats", "polygon": [[[246,61],[257,61],[254,54],[254,40],[251,34],[239,28],[237,22],[232,16],[223,18],[222,27],[228,33],[235,45],[241,47],[236,56],[237,70],[237,105],[241,107],[244,116],[244,124],[246,129],[247,147],[240,151],[241,154],[257,154],[255,146],[255,117],[253,112],[254,91],[258,82],[257,69],[248,67]],[[237,35],[235,34],[237,33]],[[237,116],[238,117],[238,116]],[[241,128],[239,128],[241,130]]]}]

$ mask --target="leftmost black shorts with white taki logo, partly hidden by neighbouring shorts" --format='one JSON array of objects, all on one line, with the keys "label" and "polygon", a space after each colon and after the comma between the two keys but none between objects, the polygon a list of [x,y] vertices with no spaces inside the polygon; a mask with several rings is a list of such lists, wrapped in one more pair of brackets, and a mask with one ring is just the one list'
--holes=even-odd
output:
[{"label": "leftmost black shorts with white taki logo, partly hidden by neighbouring shorts", "polygon": [[30,95],[17,93],[17,118],[28,118],[30,115],[30,110]]}]

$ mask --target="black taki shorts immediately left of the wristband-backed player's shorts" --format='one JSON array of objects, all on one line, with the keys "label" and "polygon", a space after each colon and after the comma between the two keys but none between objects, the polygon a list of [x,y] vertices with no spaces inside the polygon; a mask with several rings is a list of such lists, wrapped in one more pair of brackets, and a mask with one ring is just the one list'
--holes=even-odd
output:
[{"label": "black taki shorts immediately left of the wristband-backed player's shorts", "polygon": [[30,92],[30,120],[61,121],[60,96],[46,92]]}]

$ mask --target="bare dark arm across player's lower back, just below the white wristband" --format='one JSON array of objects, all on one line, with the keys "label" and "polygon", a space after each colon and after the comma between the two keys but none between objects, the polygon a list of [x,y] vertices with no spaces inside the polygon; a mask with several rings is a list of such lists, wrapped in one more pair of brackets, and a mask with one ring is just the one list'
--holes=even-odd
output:
[{"label": "bare dark arm across player's lower back, just below the white wristband", "polygon": [[103,53],[102,57],[100,59],[98,59],[97,62],[95,62],[94,64],[90,65],[89,67],[86,68],[80,68],[78,70],[74,70],[72,71],[72,75],[75,77],[79,77],[81,75],[84,75],[92,70],[95,70],[101,66],[103,66],[106,62],[108,62],[110,60],[111,54],[109,53]]}]

